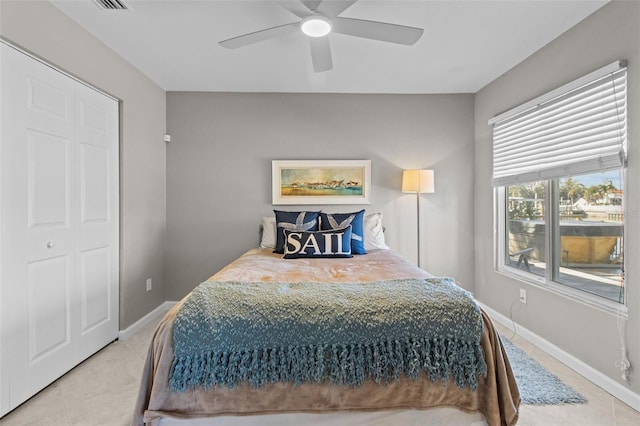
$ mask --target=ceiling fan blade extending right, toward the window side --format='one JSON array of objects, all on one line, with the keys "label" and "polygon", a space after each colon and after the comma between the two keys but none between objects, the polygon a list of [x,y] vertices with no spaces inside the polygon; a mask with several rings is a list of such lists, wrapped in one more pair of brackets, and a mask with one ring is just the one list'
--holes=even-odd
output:
[{"label": "ceiling fan blade extending right, toward the window side", "polygon": [[406,44],[408,46],[418,41],[422,37],[422,33],[424,33],[422,28],[351,18],[334,18],[332,31],[389,43]]}]

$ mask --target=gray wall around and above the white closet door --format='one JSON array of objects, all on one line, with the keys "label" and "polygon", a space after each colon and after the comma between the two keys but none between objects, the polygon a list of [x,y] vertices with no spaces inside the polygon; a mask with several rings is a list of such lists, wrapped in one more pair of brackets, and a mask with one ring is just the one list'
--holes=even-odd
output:
[{"label": "gray wall around and above the white closet door", "polygon": [[[165,92],[47,1],[1,1],[0,35],[121,100],[120,329],[166,300]],[[146,278],[154,289],[146,292]]]}]

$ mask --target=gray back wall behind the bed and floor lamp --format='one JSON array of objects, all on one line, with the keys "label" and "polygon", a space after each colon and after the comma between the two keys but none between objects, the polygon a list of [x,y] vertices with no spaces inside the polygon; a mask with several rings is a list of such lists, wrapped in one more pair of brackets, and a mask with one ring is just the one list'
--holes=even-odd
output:
[{"label": "gray back wall behind the bed and floor lamp", "polygon": [[[473,281],[473,95],[167,94],[167,282],[184,296],[259,242],[271,160],[370,159],[391,248],[416,260],[402,170],[435,170],[422,197],[422,266]],[[314,206],[278,206],[282,210]],[[350,211],[363,206],[315,206]]]}]

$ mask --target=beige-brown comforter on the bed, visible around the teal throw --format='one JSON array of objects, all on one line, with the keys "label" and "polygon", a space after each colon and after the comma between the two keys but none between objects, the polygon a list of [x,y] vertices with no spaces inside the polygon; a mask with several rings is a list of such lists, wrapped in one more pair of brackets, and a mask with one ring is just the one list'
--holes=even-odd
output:
[{"label": "beige-brown comforter on the bed, visible around the teal throw", "polygon": [[[349,259],[282,259],[265,249],[253,249],[211,279],[277,282],[368,282],[381,279],[429,277],[389,250],[372,250]],[[375,409],[455,407],[482,413],[489,425],[511,425],[518,418],[520,396],[502,343],[483,312],[482,347],[487,377],[478,389],[459,388],[453,382],[402,378],[388,385],[367,382],[361,387],[276,383],[253,388],[240,385],[171,392],[169,369],[173,360],[172,326],[181,303],[172,308],[156,330],[149,348],[133,424],[155,424],[163,416],[201,418],[286,412],[323,412]]]}]

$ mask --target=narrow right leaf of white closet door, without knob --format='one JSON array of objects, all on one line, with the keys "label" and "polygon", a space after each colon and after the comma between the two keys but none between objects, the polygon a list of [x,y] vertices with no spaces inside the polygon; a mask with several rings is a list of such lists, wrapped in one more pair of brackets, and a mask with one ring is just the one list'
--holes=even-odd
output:
[{"label": "narrow right leaf of white closet door, without knob", "polygon": [[118,104],[76,87],[79,354],[118,335]]}]

